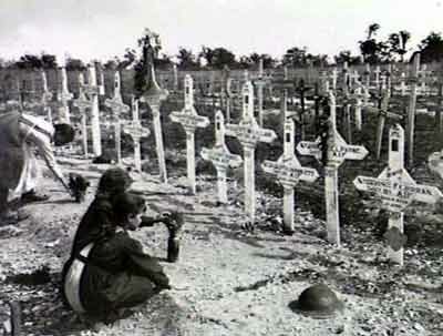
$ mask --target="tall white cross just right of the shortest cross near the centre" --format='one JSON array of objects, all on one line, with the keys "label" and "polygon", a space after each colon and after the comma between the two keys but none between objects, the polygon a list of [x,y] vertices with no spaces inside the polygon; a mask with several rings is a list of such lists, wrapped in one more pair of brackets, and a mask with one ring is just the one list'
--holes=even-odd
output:
[{"label": "tall white cross just right of the shortest cross near the centre", "polygon": [[244,176],[245,176],[245,212],[251,224],[255,221],[255,150],[257,143],[272,142],[277,135],[272,130],[261,129],[254,118],[254,86],[251,82],[244,84],[243,116],[239,124],[227,124],[226,135],[235,136],[244,150]]}]

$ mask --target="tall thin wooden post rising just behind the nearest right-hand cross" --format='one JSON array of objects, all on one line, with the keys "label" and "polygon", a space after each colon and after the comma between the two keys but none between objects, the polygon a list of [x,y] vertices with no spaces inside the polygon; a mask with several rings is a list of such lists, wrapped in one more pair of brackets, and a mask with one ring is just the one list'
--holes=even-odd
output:
[{"label": "tall thin wooden post rising just behind the nearest right-hand cross", "polygon": [[416,103],[416,85],[418,73],[420,68],[420,53],[415,53],[413,59],[413,68],[411,75],[411,92],[408,105],[408,165],[412,166],[414,163],[414,124],[415,124],[415,103]]}]

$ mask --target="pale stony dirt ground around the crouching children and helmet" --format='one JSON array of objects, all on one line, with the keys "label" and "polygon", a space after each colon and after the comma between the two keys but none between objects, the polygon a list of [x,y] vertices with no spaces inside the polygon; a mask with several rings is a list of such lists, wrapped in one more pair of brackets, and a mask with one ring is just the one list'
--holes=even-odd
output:
[{"label": "pale stony dirt ground around the crouching children and helmet", "polygon": [[[405,248],[400,268],[387,263],[385,244],[374,235],[373,223],[343,225],[343,244],[336,247],[324,241],[324,223],[298,210],[296,233],[286,236],[267,221],[281,200],[261,193],[257,227],[246,231],[240,189],[231,185],[230,204],[217,206],[210,175],[198,176],[196,196],[186,194],[184,177],[173,176],[168,185],[147,174],[137,179],[134,189],[145,193],[151,212],[186,212],[175,264],[164,261],[167,235],[162,224],[133,234],[161,258],[176,289],[110,325],[80,319],[61,302],[60,272],[106,165],[80,159],[61,162],[65,172],[92,182],[86,202],[73,203],[47,176],[42,191],[50,201],[24,205],[28,220],[0,227],[0,306],[21,302],[23,335],[443,335],[443,240],[437,226],[429,224],[422,233],[434,237],[432,244],[423,238]],[[40,284],[20,281],[21,274],[42,267],[49,276]],[[318,283],[330,286],[344,303],[337,317],[315,319],[289,308],[305,288]]]}]

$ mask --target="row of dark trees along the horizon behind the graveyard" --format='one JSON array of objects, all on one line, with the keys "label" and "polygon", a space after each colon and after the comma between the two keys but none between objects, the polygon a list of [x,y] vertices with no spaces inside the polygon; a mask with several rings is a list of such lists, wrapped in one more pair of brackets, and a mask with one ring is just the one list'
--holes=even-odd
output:
[{"label": "row of dark trees along the horizon behind the graveyard", "polygon": [[[381,27],[372,23],[368,27],[361,41],[358,41],[360,54],[352,54],[350,50],[342,50],[330,58],[327,54],[313,54],[307,47],[292,47],[288,49],[281,59],[272,58],[269,54],[253,52],[248,55],[236,55],[233,51],[224,48],[210,48],[203,45],[199,52],[181,47],[176,55],[159,53],[155,59],[155,65],[159,70],[171,69],[174,62],[179,70],[220,70],[226,65],[229,69],[250,69],[258,67],[260,59],[264,68],[274,69],[281,65],[290,68],[328,67],[330,64],[383,64],[390,62],[405,62],[405,55],[412,48],[409,45],[411,33],[406,30],[393,32],[387,39],[379,39],[378,32]],[[114,57],[103,63],[104,69],[127,69],[135,71],[143,68],[142,48],[146,37],[138,39],[138,50],[127,48],[122,58]],[[443,60],[443,37],[440,32],[431,32],[423,39],[416,49],[421,52],[422,63],[440,62]],[[65,60],[66,70],[84,70],[85,63],[76,58],[69,57]],[[55,69],[58,68],[56,57],[42,52],[37,54],[24,54],[19,60],[0,59],[0,69]]]}]

